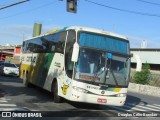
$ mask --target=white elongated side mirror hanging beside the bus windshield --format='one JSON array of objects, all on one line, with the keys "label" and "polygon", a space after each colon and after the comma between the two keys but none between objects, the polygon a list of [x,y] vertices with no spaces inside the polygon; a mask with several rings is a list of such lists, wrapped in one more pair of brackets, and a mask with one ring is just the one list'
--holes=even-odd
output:
[{"label": "white elongated side mirror hanging beside the bus windshield", "polygon": [[79,55],[79,44],[77,42],[73,45],[73,52],[72,52],[72,62],[78,61],[78,55]]}]

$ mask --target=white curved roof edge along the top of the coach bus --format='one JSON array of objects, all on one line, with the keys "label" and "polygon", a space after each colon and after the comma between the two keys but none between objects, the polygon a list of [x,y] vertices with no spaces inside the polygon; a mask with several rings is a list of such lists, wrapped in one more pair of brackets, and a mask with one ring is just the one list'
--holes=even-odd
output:
[{"label": "white curved roof edge along the top of the coach bus", "polygon": [[116,34],[116,33],[108,32],[108,31],[104,31],[104,30],[100,30],[100,29],[95,29],[95,28],[81,27],[81,26],[70,26],[70,27],[64,27],[64,28],[61,28],[61,29],[56,28],[56,29],[53,29],[49,32],[42,33],[39,36],[31,37],[29,39],[26,39],[25,41],[33,39],[33,38],[38,38],[38,37],[50,35],[50,34],[53,34],[53,33],[56,33],[56,32],[60,32],[60,31],[66,31],[66,30],[86,31],[86,32],[92,32],[92,33],[104,34],[104,35],[109,35],[109,36],[112,36],[112,37],[117,37],[117,38],[121,38],[121,39],[124,39],[124,40],[128,41],[127,37]]}]

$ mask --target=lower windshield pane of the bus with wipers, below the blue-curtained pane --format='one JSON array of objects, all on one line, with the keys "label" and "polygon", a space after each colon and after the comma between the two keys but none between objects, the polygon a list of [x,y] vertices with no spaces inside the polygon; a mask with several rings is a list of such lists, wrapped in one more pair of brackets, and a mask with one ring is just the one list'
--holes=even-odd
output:
[{"label": "lower windshield pane of the bus with wipers, below the blue-curtained pane", "polygon": [[[110,86],[127,86],[129,59],[111,53],[81,48],[75,79]],[[108,55],[108,58],[107,58]]]}]

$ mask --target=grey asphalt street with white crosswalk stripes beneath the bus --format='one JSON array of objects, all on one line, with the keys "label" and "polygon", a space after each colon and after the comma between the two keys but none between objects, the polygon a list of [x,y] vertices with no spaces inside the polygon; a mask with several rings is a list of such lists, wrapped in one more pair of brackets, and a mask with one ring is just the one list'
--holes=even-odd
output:
[{"label": "grey asphalt street with white crosswalk stripes beneath the bus", "polygon": [[[0,91],[3,93],[0,97],[0,111],[54,111],[55,116],[52,113],[54,117],[112,117],[118,116],[118,113],[160,111],[160,97],[131,92],[128,93],[123,107],[83,104],[66,100],[57,104],[53,102],[51,93],[34,86],[24,87],[22,80],[16,77],[0,76]],[[119,116],[125,117],[123,114]]]}]

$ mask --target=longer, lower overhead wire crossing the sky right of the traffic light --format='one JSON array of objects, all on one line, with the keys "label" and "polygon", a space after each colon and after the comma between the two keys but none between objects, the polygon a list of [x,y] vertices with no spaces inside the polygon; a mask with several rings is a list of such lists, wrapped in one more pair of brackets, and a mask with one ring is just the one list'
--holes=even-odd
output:
[{"label": "longer, lower overhead wire crossing the sky right of the traffic light", "polygon": [[85,0],[86,2],[101,6],[101,7],[106,7],[109,9],[113,9],[113,10],[117,10],[117,11],[121,11],[121,12],[127,12],[127,13],[132,13],[132,14],[138,14],[138,15],[144,15],[144,16],[152,16],[152,17],[160,17],[160,15],[158,14],[151,14],[151,13],[143,13],[143,12],[138,12],[138,11],[132,11],[132,10],[127,10],[127,9],[121,9],[121,8],[116,8],[116,7],[112,7],[109,5],[105,5],[105,4],[101,4],[101,3],[97,3],[97,2],[93,2],[90,0]]}]

